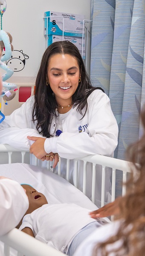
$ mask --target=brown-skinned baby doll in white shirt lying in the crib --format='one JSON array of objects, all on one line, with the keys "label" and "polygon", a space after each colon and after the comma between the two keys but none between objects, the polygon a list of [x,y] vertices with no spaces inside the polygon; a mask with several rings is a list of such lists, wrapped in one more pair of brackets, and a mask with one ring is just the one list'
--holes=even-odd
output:
[{"label": "brown-skinned baby doll in white shirt lying in the crib", "polygon": [[90,210],[72,203],[49,205],[44,194],[30,185],[22,187],[29,208],[17,228],[67,255],[73,255],[84,238],[105,222],[92,219]]}]

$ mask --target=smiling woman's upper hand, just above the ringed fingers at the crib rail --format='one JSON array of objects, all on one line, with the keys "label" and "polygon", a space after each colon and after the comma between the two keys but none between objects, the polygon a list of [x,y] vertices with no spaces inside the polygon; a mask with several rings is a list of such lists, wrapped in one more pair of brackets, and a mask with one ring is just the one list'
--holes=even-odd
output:
[{"label": "smiling woman's upper hand, just above the ringed fingers at the crib rail", "polygon": [[[35,141],[31,146],[30,146],[30,153],[35,155],[38,159],[43,158],[47,153],[44,150],[44,142],[46,138],[42,137],[30,137],[27,136],[29,140]],[[45,159],[44,159],[45,160]],[[42,160],[42,161],[44,161]]]}]

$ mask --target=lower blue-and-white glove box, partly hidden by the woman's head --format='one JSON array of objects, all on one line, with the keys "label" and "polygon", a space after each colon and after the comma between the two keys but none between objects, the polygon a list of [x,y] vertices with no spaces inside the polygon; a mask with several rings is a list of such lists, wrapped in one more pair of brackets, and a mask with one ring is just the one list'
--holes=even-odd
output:
[{"label": "lower blue-and-white glove box, partly hidden by the woman's head", "polygon": [[[62,36],[52,36],[48,35],[47,37],[47,47],[51,45],[54,42],[62,41]],[[79,53],[82,53],[82,37],[74,37],[74,36],[64,36],[64,41],[70,41],[73,43],[77,48]],[[83,57],[82,59],[85,59],[85,41],[83,40]],[[82,55],[81,55],[82,56]]]}]

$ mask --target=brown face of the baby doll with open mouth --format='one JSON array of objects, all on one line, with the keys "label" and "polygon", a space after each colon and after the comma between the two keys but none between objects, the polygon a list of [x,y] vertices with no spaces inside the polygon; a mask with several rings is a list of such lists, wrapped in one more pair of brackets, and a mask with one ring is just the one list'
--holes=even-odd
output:
[{"label": "brown face of the baby doll with open mouth", "polygon": [[32,211],[36,210],[37,208],[41,207],[42,205],[47,204],[46,197],[44,194],[39,193],[35,188],[32,188],[29,185],[21,185],[24,189],[26,189],[26,195],[29,199],[29,208],[26,211],[26,214],[31,213]]}]

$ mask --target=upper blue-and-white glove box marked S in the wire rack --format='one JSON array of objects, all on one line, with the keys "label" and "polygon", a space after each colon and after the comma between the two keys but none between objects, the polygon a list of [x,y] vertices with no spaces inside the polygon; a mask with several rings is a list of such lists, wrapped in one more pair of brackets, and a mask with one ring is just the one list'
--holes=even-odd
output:
[{"label": "upper blue-and-white glove box marked S in the wire rack", "polygon": [[[64,36],[82,37],[85,15],[53,12],[44,13],[44,35],[62,36],[64,20]],[[48,24],[47,24],[48,21]],[[47,26],[48,25],[48,26]]]}]

